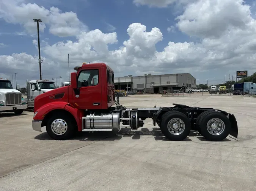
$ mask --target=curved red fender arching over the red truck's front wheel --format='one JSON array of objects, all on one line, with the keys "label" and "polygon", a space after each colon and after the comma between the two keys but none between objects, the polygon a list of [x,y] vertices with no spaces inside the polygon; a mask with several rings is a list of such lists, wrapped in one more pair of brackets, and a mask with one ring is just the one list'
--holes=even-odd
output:
[{"label": "curved red fender arching over the red truck's front wheel", "polygon": [[47,103],[44,106],[41,106],[37,111],[36,116],[33,117],[33,120],[43,120],[44,116],[46,116],[47,113],[54,109],[64,109],[67,105],[67,102],[50,102]]}]

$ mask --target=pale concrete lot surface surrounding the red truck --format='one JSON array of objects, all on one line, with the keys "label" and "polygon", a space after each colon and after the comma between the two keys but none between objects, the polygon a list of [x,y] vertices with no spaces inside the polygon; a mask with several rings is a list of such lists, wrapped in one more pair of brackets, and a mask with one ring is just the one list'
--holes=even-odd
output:
[{"label": "pale concrete lot surface surrounding the red truck", "polygon": [[172,142],[146,120],[117,136],[79,133],[51,140],[31,128],[33,112],[0,114],[0,190],[256,190],[256,98],[243,96],[120,98],[126,107],[190,106],[235,115],[238,140],[209,142],[191,132]]}]

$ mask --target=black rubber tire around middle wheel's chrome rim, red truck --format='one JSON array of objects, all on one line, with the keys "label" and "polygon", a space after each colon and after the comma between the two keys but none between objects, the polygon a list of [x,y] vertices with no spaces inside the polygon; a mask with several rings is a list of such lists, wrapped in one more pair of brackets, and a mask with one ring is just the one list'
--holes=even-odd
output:
[{"label": "black rubber tire around middle wheel's chrome rim, red truck", "polygon": [[[180,131],[182,131],[181,134],[175,135],[175,134],[173,134],[173,133],[175,133],[175,131],[173,133],[171,133],[168,129],[168,122],[174,118],[178,118],[184,123],[184,128],[181,128],[181,130],[179,129]],[[182,126],[183,126],[183,124],[182,124]],[[190,133],[191,123],[190,123],[190,120],[188,119],[188,117],[184,113],[179,112],[179,111],[168,111],[165,114],[163,114],[163,116],[162,116],[162,122],[160,124],[160,129],[167,139],[170,139],[173,141],[181,141],[181,140],[184,140]]]}]

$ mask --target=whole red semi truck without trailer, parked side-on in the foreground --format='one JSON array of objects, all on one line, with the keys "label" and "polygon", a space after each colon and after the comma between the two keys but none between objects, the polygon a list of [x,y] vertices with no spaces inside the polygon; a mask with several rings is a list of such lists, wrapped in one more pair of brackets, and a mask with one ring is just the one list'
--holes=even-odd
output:
[{"label": "whole red semi truck without trailer, parked side-on in the foreground", "polygon": [[46,131],[52,139],[71,138],[76,131],[136,130],[151,118],[170,140],[183,140],[191,130],[207,140],[220,141],[229,134],[237,138],[233,114],[213,108],[173,107],[128,109],[120,105],[115,91],[114,72],[104,63],[83,64],[71,73],[71,85],[53,89],[35,98],[32,127]]}]

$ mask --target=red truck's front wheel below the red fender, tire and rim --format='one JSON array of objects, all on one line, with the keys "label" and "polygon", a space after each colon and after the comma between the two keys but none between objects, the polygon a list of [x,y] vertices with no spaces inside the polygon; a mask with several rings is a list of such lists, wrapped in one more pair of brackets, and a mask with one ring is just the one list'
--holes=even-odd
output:
[{"label": "red truck's front wheel below the red fender, tire and rim", "polygon": [[75,123],[65,114],[56,114],[48,121],[46,131],[52,139],[69,139],[75,133]]}]

